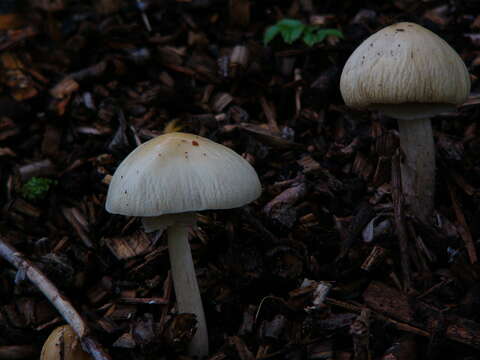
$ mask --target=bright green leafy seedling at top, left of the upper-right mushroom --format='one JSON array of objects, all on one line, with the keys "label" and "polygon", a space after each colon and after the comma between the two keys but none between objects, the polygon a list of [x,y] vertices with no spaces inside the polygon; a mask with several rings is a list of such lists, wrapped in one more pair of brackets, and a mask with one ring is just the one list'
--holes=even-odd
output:
[{"label": "bright green leafy seedling at top, left of the upper-right mushroom", "polygon": [[329,35],[343,39],[342,32],[337,29],[321,29],[315,25],[305,25],[300,20],[282,19],[267,28],[263,35],[263,44],[267,45],[278,34],[282,35],[283,41],[287,44],[292,44],[301,37],[308,46],[322,42]]}]

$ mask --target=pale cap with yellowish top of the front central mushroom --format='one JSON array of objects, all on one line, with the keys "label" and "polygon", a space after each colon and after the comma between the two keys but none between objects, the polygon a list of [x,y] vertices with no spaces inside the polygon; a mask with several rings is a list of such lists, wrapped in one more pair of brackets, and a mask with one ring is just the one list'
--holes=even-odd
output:
[{"label": "pale cap with yellowish top of the front central mushroom", "polygon": [[132,151],[108,188],[106,209],[160,216],[243,206],[260,196],[253,167],[233,150],[201,136],[169,133]]}]

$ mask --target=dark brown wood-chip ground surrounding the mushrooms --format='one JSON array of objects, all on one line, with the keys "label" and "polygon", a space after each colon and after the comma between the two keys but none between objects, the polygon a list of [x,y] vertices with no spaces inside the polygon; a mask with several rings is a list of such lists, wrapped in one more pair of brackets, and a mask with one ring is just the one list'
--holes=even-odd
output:
[{"label": "dark brown wood-chip ground surrounding the mushrooms", "polygon": [[[105,210],[125,156],[172,131],[230,147],[263,186],[191,231],[211,360],[480,358],[478,1],[30,5],[0,14],[0,359],[38,359],[68,320],[32,269],[96,359],[191,358],[165,236]],[[264,44],[282,19],[343,36]],[[445,39],[472,79],[432,119],[432,224],[404,206],[396,121],[339,91],[353,50],[400,21]]]}]

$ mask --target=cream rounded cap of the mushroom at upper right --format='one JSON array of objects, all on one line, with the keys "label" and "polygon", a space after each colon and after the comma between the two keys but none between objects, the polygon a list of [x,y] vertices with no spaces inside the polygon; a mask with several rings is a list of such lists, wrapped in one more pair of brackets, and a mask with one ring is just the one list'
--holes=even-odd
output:
[{"label": "cream rounded cap of the mushroom at upper right", "polygon": [[403,22],[360,44],[343,68],[340,91],[350,107],[378,109],[399,119],[422,118],[463,103],[470,76],[447,42]]}]

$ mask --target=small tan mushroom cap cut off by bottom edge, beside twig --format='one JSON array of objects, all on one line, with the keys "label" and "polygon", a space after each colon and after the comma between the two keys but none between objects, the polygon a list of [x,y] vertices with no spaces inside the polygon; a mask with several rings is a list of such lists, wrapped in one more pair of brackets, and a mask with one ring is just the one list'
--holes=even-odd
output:
[{"label": "small tan mushroom cap cut off by bottom edge, beside twig", "polygon": [[82,350],[77,335],[69,325],[55,328],[42,347],[40,360],[91,360]]}]

